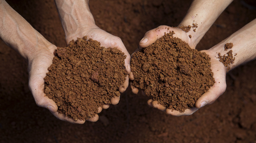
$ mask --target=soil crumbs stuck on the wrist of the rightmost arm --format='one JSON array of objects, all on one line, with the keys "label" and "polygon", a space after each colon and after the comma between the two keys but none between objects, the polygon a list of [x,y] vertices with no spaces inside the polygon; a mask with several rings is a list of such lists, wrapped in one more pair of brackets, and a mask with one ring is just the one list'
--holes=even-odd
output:
[{"label": "soil crumbs stuck on the wrist of the rightmost arm", "polygon": [[[227,51],[227,49],[231,49],[233,47],[233,43],[226,43],[224,46],[224,50]],[[223,63],[223,65],[227,68],[227,72],[230,71],[230,64],[234,63],[235,57],[233,57],[233,51],[228,51],[225,55],[221,56],[221,53],[218,53],[219,61]],[[234,56],[236,56],[235,54]]]}]

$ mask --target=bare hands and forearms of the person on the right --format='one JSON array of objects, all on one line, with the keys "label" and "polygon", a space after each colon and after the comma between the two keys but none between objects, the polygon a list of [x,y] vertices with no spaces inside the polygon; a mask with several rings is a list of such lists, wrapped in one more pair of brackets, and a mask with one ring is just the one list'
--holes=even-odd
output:
[{"label": "bare hands and forearms of the person on the right", "polygon": [[[169,26],[159,26],[155,30],[152,29],[145,33],[142,40],[139,42],[139,48],[145,48],[154,43],[157,39],[164,36],[164,32],[167,32],[165,27],[170,28],[170,31],[174,31],[174,37],[178,37],[181,40],[187,42],[192,49],[195,49],[196,45],[203,38],[203,35],[208,31],[210,26],[219,17],[223,10],[232,2],[232,0],[215,0],[215,1],[205,1],[205,0],[194,0],[185,16],[182,20],[181,25],[192,25],[193,23],[198,24],[196,32],[190,30],[185,33],[181,29],[172,28]],[[188,35],[192,35],[190,39]],[[148,104],[161,111],[165,111],[167,114],[174,116],[191,115],[196,112],[199,108],[205,106],[206,104],[212,104],[219,96],[221,96],[226,89],[226,67],[217,59],[218,53],[221,55],[226,54],[228,51],[224,51],[225,43],[232,42],[234,44],[232,51],[237,54],[235,56],[235,61],[229,67],[233,69],[241,64],[244,64],[250,60],[256,58],[256,20],[253,20],[249,24],[245,25],[243,28],[210,48],[209,50],[203,50],[211,57],[211,69],[214,73],[213,77],[215,79],[215,84],[206,93],[204,93],[196,102],[195,107],[191,109],[186,109],[185,112],[180,113],[179,111],[172,111],[171,109],[166,109],[166,107],[159,104],[157,101],[148,100]],[[137,49],[135,52],[139,51]],[[217,52],[217,53],[216,53]],[[130,74],[130,79],[134,80],[132,73]],[[138,93],[139,89],[133,87],[131,84],[133,93]]]}]

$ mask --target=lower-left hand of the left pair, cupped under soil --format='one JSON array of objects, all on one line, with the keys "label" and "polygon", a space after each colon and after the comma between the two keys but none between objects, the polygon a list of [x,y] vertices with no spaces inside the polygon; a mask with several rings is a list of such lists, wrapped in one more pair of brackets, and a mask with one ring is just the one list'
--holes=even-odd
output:
[{"label": "lower-left hand of the left pair, cupped under soil", "polygon": [[[64,114],[59,114],[57,112],[58,106],[56,103],[48,98],[44,93],[44,77],[48,72],[48,67],[53,63],[53,52],[57,49],[55,45],[49,44],[44,45],[40,48],[40,51],[34,52],[33,56],[28,58],[29,66],[29,88],[32,92],[32,95],[35,99],[35,102],[38,106],[47,108],[51,111],[51,113],[61,119],[63,121],[68,121],[71,123],[83,124],[85,120],[77,120],[71,119]],[[103,106],[103,108],[108,108],[108,106]],[[102,110],[101,107],[98,109],[98,113]],[[88,121],[97,121],[98,115],[93,118],[88,119]]]}]

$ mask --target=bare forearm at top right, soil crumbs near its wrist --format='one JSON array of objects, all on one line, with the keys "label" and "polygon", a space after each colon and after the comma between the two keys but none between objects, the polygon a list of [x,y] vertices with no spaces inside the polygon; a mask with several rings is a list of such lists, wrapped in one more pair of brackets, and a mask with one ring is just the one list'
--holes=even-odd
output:
[{"label": "bare forearm at top right, soil crumbs near its wrist", "polygon": [[196,32],[190,30],[187,33],[193,36],[191,43],[194,43],[194,45],[199,43],[211,25],[232,1],[233,0],[194,0],[192,2],[186,16],[179,25],[192,26],[193,23],[198,24]]}]

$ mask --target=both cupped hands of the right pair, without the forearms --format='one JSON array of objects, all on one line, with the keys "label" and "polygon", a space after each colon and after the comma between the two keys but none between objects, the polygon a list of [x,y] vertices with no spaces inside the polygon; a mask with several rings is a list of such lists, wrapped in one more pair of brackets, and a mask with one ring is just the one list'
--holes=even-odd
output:
[{"label": "both cupped hands of the right pair, without the forearms", "polygon": [[[146,34],[144,35],[142,40],[139,42],[138,49],[135,52],[140,51],[142,48],[146,48],[149,45],[153,44],[156,40],[158,40],[159,38],[164,36],[165,32],[167,33],[169,31],[174,31],[175,34],[173,35],[173,37],[180,38],[181,40],[187,42],[192,49],[195,49],[196,44],[193,43],[193,40],[191,40],[189,38],[188,33],[185,33],[184,31],[182,31],[181,29],[178,29],[178,28],[172,28],[169,26],[162,25],[156,29],[152,29],[152,30],[146,32]],[[158,101],[153,101],[152,99],[148,100],[148,102],[147,102],[148,105],[155,107],[161,111],[165,111],[167,114],[170,114],[173,116],[182,116],[182,115],[191,115],[194,112],[196,112],[199,108],[203,107],[204,105],[213,103],[220,95],[222,95],[224,93],[224,91],[226,89],[226,81],[225,81],[226,68],[219,61],[219,59],[217,58],[218,54],[213,49],[214,48],[211,48],[209,50],[203,50],[201,52],[205,52],[211,58],[211,69],[213,72],[213,77],[215,79],[215,83],[212,87],[210,87],[210,89],[207,92],[205,92],[197,100],[194,108],[186,109],[184,112],[181,113],[179,111],[168,109],[168,108],[164,107],[163,105],[159,104]],[[132,54],[132,56],[133,56],[133,54]],[[132,72],[130,74],[130,79],[134,80],[134,76],[133,76]],[[132,89],[133,93],[137,94],[139,89],[136,87],[133,87],[132,83],[130,83],[130,84],[131,84],[131,89]]]}]

